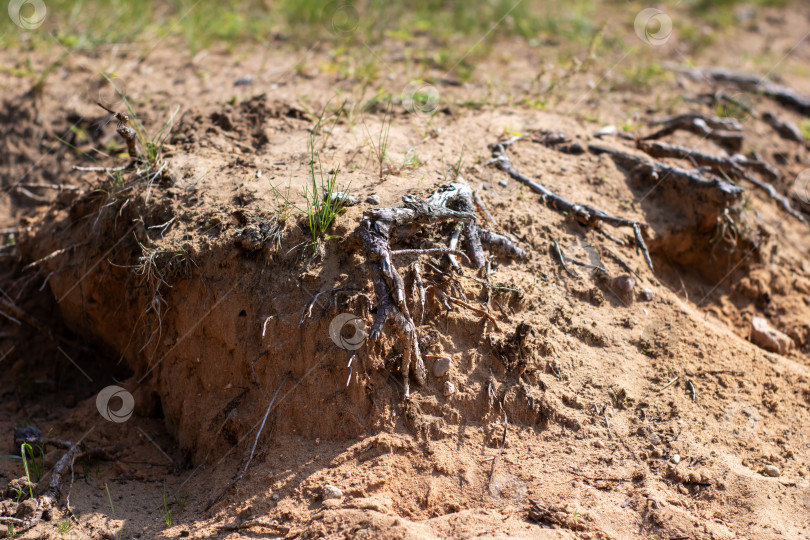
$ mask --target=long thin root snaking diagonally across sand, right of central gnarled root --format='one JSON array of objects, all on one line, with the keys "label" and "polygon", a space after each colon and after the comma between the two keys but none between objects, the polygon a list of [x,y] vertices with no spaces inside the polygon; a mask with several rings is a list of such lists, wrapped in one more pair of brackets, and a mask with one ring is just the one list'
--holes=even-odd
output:
[{"label": "long thin root snaking diagonally across sand, right of central gnarled root", "polygon": [[598,227],[601,223],[607,223],[613,227],[630,227],[633,229],[633,234],[636,238],[637,248],[641,250],[644,255],[644,260],[650,270],[653,270],[652,259],[650,259],[650,252],[647,250],[647,245],[644,243],[644,238],[641,234],[641,229],[646,228],[647,225],[638,221],[630,219],[613,217],[602,210],[588,205],[581,205],[572,203],[563,197],[557,195],[544,185],[521,174],[512,165],[509,156],[506,155],[506,148],[511,146],[520,137],[513,137],[504,141],[499,141],[491,144],[489,149],[492,151],[492,159],[487,164],[495,163],[502,171],[517,180],[521,184],[528,186],[535,193],[539,193],[543,201],[554,210],[574,216],[577,221],[589,227]]}]

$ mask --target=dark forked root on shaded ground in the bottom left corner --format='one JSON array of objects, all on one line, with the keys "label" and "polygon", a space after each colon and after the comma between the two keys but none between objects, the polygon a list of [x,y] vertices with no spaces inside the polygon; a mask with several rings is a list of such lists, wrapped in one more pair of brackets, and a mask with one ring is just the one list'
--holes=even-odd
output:
[{"label": "dark forked root on shaded ground in the bottom left corner", "polygon": [[87,449],[81,441],[73,443],[61,439],[43,437],[42,431],[33,426],[18,429],[14,432],[14,444],[19,447],[23,443],[28,443],[32,446],[40,446],[43,449],[47,445],[55,446],[57,448],[66,449],[67,452],[56,462],[56,465],[51,471],[51,480],[48,482],[48,488],[44,493],[39,495],[36,499],[30,500],[30,502],[25,501],[23,504],[20,504],[17,507],[17,515],[0,515],[0,523],[11,523],[14,526],[15,534],[22,534],[34,528],[43,519],[49,520],[51,518],[53,505],[59,501],[59,497],[62,493],[62,477],[69,469],[72,470],[73,462],[76,461],[76,459],[83,456],[109,459],[109,455],[104,450]]}]

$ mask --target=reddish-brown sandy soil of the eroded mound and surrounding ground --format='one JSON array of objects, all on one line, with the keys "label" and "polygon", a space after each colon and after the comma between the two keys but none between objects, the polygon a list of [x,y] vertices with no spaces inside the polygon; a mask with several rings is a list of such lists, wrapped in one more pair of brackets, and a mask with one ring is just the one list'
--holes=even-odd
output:
[{"label": "reddish-brown sandy soil of the eroded mound and surrounding ground", "polygon": [[[727,49],[742,57],[799,42],[790,62],[806,65],[806,25],[774,11]],[[718,204],[709,188],[651,185],[587,150],[638,155],[634,137],[652,133],[652,119],[716,114],[700,99],[716,90],[709,83],[673,75],[628,89],[608,72],[619,58],[601,59],[552,70],[563,90],[538,110],[516,99],[536,90],[526,75],[535,53],[503,51],[479,70],[497,86],[437,85],[435,114],[408,111],[407,99],[390,109],[369,102],[376,89],[361,97],[356,81],[318,67],[327,58],[319,50],[270,61],[74,54],[36,96],[2,75],[4,185],[75,187],[0,198],[0,226],[19,228],[1,260],[3,451],[18,452],[14,428],[34,424],[112,458],[78,462],[73,519],[63,495],[51,521],[24,537],[810,538],[807,223],[746,181],[740,200]],[[669,54],[677,63],[677,49]],[[409,79],[391,55],[386,87],[400,96]],[[717,55],[707,51],[704,63],[728,57]],[[116,143],[113,126],[91,129],[96,98],[115,100],[95,75],[109,66],[151,130],[181,106],[154,181],[73,170],[126,163],[92,150]],[[248,75],[252,84],[234,85]],[[810,79],[785,82],[810,94]],[[774,187],[793,190],[800,206],[807,145],[779,137],[761,113],[803,117],[727,92],[755,113],[741,118],[742,151],[776,167]],[[369,140],[387,119],[390,165],[380,178]],[[610,125],[616,133],[603,131]],[[585,151],[536,142],[547,132]],[[303,204],[312,134],[324,170],[339,167],[337,185],[358,199],[316,257],[305,220],[279,195]],[[632,230],[586,227],[488,165],[488,145],[514,134],[530,135],[509,149],[519,171],[568,200],[647,223],[655,270]],[[692,133],[664,140],[728,155]],[[406,400],[390,328],[348,367],[352,353],[330,338],[330,322],[350,313],[369,327],[378,307],[351,239],[363,212],[453,181],[469,183],[494,219],[479,221],[529,257],[493,258],[489,302],[485,274],[419,258],[426,281],[476,310],[447,311],[428,295],[418,333],[432,336],[429,375],[424,386],[411,377]],[[427,226],[403,247],[445,246],[450,234]],[[564,269],[555,243],[606,272]],[[409,291],[416,260],[397,259]],[[628,292],[617,278],[632,275]],[[407,302],[418,311],[415,297]],[[752,343],[756,316],[790,347]],[[437,377],[440,357],[452,364]],[[109,385],[134,397],[124,422],[99,414]],[[49,449],[44,469],[63,452]],[[0,460],[2,485],[22,474],[19,460]],[[341,495],[329,498],[327,485]],[[261,524],[222,528],[252,519]],[[57,530],[63,520],[69,532]]]}]

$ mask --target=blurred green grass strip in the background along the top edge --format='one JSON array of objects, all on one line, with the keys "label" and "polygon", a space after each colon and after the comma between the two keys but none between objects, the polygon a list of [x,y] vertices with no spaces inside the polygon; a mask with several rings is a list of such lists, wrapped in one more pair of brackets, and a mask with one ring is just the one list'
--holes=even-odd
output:
[{"label": "blurred green grass strip in the background along the top edge", "polygon": [[[32,4],[22,8],[30,17]],[[513,54],[505,39],[543,49],[544,62],[567,65],[633,52],[621,69],[627,84],[650,88],[669,75],[660,49],[636,38],[636,15],[645,0],[41,0],[41,27],[24,30],[0,16],[5,49],[100,51],[112,47],[148,55],[155,47],[179,54],[208,48],[231,52],[319,47],[332,59],[323,66],[340,76],[370,81],[379,76],[384,52],[468,80],[486,57]],[[684,0],[661,8],[671,17],[678,45],[699,52],[728,39],[741,24],[754,24],[766,6],[799,0]],[[752,22],[754,21],[754,22]],[[385,43],[383,48],[379,44]],[[683,48],[680,49],[684,51]],[[510,52],[512,51],[512,52]],[[541,68],[542,69],[542,68]],[[18,63],[0,70],[35,70]]]}]

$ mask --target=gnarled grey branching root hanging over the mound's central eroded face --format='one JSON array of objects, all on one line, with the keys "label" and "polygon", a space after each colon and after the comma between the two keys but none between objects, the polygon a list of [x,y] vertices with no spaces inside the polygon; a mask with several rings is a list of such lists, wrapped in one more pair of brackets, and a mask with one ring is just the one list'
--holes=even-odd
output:
[{"label": "gnarled grey branching root hanging over the mound's central eroded face", "polygon": [[[367,258],[371,281],[374,283],[374,292],[379,302],[369,337],[372,341],[377,341],[382,335],[385,323],[391,322],[394,333],[403,347],[401,371],[405,396],[408,397],[411,370],[419,384],[425,383],[426,371],[417,337],[417,325],[408,309],[405,282],[394,265],[394,256],[447,254],[451,257],[451,261],[455,261],[456,266],[458,262],[455,257],[461,256],[471,261],[477,268],[484,268],[487,257],[481,246],[482,236],[489,245],[499,246],[499,253],[518,258],[525,257],[526,253],[513,245],[507,237],[491,233],[476,224],[473,193],[466,183],[456,182],[440,186],[427,199],[405,195],[402,201],[403,204],[400,206],[366,210],[352,237],[358,241],[360,250]],[[463,229],[463,243],[469,258],[464,252],[456,250],[453,243],[448,249],[392,249],[397,240],[408,237],[416,230],[446,221],[455,221],[460,225],[454,234],[457,240],[461,239]],[[420,304],[421,324],[425,311],[426,287],[418,264],[414,265],[414,286]],[[494,319],[491,320],[494,322]],[[497,323],[495,327],[497,329]]]}]

